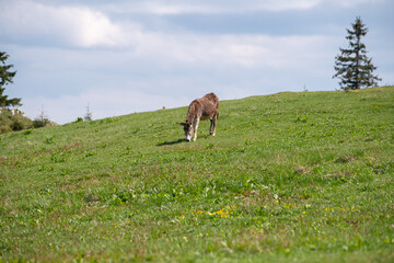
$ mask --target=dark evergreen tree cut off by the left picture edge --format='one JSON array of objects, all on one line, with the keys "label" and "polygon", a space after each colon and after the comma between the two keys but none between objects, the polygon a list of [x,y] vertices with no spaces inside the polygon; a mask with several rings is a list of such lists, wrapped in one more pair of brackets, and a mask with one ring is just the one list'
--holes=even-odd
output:
[{"label": "dark evergreen tree cut off by the left picture edge", "polygon": [[5,65],[5,60],[9,58],[7,53],[0,52],[0,108],[9,106],[21,106],[21,99],[8,99],[8,95],[3,95],[5,85],[12,83],[13,77],[15,77],[16,71],[10,71],[13,65]]}]

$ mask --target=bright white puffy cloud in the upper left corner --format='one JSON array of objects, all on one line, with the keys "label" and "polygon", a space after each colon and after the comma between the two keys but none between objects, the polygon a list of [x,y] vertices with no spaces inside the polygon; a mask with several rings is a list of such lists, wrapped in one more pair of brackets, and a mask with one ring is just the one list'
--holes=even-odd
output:
[{"label": "bright white puffy cloud in the upper left corner", "polygon": [[51,7],[33,1],[5,1],[0,9],[0,36],[15,41],[77,47],[124,43],[119,25],[85,7]]}]

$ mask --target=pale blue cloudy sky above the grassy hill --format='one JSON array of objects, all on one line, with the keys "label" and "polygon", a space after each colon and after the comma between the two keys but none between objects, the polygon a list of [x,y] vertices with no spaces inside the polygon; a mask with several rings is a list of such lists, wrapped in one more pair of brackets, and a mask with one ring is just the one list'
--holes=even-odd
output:
[{"label": "pale blue cloudy sky above the grassy hill", "polygon": [[[392,0],[0,0],[4,94],[58,124],[283,91],[334,91],[357,16],[394,84]],[[186,116],[186,113],[185,113]],[[183,121],[183,119],[179,119]]]}]

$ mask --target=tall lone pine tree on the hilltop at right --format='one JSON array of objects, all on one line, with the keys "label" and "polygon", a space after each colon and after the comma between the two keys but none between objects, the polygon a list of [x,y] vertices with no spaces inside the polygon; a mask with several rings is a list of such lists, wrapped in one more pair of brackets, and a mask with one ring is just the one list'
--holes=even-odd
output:
[{"label": "tall lone pine tree on the hilltop at right", "polygon": [[333,76],[340,80],[340,89],[346,91],[378,85],[378,81],[382,80],[373,75],[376,67],[372,65],[372,58],[367,57],[366,45],[361,43],[361,37],[367,35],[368,28],[359,16],[351,27],[352,30],[347,30],[346,36],[349,48],[339,48],[340,55],[335,57],[336,73]]}]

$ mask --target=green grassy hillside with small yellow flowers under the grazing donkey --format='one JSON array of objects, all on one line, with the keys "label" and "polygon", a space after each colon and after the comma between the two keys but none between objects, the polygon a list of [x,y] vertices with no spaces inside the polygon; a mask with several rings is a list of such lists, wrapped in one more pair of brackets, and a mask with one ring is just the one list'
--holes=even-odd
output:
[{"label": "green grassy hillside with small yellow flowers under the grazing donkey", "polygon": [[393,262],[394,88],[0,136],[0,261]]}]

